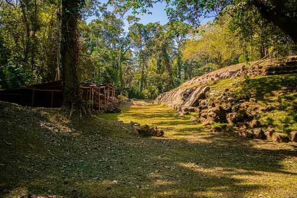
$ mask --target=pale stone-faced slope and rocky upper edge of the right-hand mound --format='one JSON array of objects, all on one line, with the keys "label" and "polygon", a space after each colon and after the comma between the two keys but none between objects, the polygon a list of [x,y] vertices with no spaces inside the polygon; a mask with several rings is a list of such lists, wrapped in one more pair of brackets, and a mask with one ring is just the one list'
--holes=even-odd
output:
[{"label": "pale stone-faced slope and rocky upper edge of the right-hand mound", "polygon": [[[293,59],[293,60],[292,60]],[[296,73],[297,72],[297,57],[291,56],[283,60],[273,60],[270,59],[256,64],[253,66],[253,76],[263,75],[263,74],[286,74],[286,73]],[[289,60],[289,61],[288,61]],[[291,61],[292,60],[292,61]],[[282,62],[290,62],[289,65],[282,64]],[[257,63],[257,61],[250,62],[250,64]],[[203,98],[203,95],[209,91],[208,88],[203,89],[209,85],[215,84],[218,80],[222,79],[235,79],[240,76],[251,77],[250,67],[244,67],[246,63],[240,63],[237,65],[231,65],[224,67],[222,69],[215,70],[213,72],[204,74],[199,77],[195,77],[190,81],[183,83],[178,88],[171,90],[166,93],[160,94],[154,101],[155,103],[162,103],[180,110],[182,106],[198,106],[198,100]],[[276,65],[281,65],[280,67],[275,67]],[[294,64],[292,66],[292,64]],[[259,68],[259,70],[258,70]],[[275,71],[276,70],[276,71]],[[292,70],[292,71],[282,71],[279,70]]]}]

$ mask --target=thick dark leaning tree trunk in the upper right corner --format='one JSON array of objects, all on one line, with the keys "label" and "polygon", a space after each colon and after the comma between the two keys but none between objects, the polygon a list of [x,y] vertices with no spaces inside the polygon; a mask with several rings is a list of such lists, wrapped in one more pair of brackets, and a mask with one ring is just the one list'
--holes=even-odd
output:
[{"label": "thick dark leaning tree trunk in the upper right corner", "polygon": [[278,26],[297,43],[297,19],[284,13],[284,2],[282,0],[273,0],[271,3],[274,6],[273,8],[264,4],[262,0],[253,0],[253,4],[263,18]]}]

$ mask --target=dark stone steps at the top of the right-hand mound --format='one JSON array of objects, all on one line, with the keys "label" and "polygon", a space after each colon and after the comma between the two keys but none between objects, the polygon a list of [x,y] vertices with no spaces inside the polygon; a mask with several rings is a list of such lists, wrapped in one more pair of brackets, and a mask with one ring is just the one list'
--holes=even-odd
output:
[{"label": "dark stone steps at the top of the right-hand mound", "polygon": [[297,57],[292,57],[286,63],[269,65],[264,69],[264,75],[297,74]]}]

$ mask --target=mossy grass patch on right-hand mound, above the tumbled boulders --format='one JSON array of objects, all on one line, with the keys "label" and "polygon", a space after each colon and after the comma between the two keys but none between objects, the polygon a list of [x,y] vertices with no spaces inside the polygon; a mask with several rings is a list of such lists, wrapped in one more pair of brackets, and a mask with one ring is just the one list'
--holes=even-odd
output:
[{"label": "mossy grass patch on right-hand mound, above the tumbled boulders", "polygon": [[270,127],[285,134],[297,130],[296,74],[224,79],[211,86],[211,90],[216,91],[226,88],[234,89],[238,97],[245,94],[248,98],[256,98],[261,106],[273,108],[260,116],[263,129]]}]

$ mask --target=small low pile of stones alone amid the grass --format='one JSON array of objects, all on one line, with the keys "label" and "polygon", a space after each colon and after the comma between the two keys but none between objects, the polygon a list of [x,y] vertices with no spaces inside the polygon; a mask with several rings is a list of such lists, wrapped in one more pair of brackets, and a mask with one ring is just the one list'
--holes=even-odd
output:
[{"label": "small low pile of stones alone amid the grass", "polygon": [[152,125],[152,127],[149,127],[147,124],[144,126],[141,126],[137,122],[130,122],[130,125],[133,127],[133,129],[141,136],[149,137],[149,136],[155,136],[155,137],[163,137],[164,131],[162,129],[158,129],[155,125]]}]

